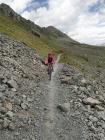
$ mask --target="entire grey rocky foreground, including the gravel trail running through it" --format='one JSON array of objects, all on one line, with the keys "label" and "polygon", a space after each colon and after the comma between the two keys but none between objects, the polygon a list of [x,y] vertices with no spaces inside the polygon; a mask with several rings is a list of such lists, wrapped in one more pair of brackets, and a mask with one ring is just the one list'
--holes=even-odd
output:
[{"label": "entire grey rocky foreground, including the gravel trail running through it", "polygon": [[104,85],[0,35],[1,140],[105,140]]}]

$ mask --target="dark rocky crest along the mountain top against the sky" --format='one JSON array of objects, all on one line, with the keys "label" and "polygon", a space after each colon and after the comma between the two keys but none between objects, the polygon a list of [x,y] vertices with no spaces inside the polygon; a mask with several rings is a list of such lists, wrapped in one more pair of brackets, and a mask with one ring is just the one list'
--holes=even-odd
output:
[{"label": "dark rocky crest along the mountain top against the sky", "polygon": [[[48,26],[48,27],[40,27],[39,25],[36,25],[31,20],[26,20],[24,17],[17,14],[10,6],[7,4],[0,4],[0,11],[5,14],[6,16],[11,17],[13,20],[24,23],[27,26],[27,29],[31,30],[31,32],[37,36],[41,36],[42,33],[49,33],[52,34],[54,32],[57,33],[58,36],[68,38],[71,42],[78,43],[77,41],[71,39],[68,35],[65,33],[62,33],[59,29],[55,28],[54,26]],[[35,31],[36,30],[36,31]],[[41,32],[41,34],[40,34]]]}]

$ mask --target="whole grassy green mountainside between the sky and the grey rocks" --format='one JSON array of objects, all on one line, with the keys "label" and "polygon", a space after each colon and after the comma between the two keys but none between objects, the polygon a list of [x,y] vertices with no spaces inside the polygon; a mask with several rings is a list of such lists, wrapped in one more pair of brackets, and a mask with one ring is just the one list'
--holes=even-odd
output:
[{"label": "whole grassy green mountainside between the sky and the grey rocks", "polygon": [[0,32],[24,42],[41,55],[62,53],[62,62],[85,73],[105,67],[105,48],[81,44],[53,26],[41,28],[15,13],[8,5],[0,5]]}]

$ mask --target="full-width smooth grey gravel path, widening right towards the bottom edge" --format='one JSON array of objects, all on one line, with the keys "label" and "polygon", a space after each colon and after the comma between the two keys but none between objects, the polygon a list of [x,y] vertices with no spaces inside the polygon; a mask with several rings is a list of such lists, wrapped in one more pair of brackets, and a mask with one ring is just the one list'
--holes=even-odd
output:
[{"label": "full-width smooth grey gravel path, widening right towards the bottom edge", "polygon": [[80,115],[77,117],[72,116],[74,113],[78,114],[78,111],[76,112],[72,108],[69,113],[66,113],[57,109],[59,104],[68,102],[68,94],[72,96],[69,88],[61,86],[60,73],[62,69],[62,64],[55,65],[52,80],[48,85],[43,140],[85,140],[86,128],[81,121]]}]

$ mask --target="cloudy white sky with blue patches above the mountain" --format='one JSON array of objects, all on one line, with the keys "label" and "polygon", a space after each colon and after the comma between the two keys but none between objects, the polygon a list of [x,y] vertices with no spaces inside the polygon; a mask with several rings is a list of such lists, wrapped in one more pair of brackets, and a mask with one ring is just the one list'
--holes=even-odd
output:
[{"label": "cloudy white sky with blue patches above the mountain", "polygon": [[105,44],[105,0],[0,0],[41,27],[87,44]]}]

